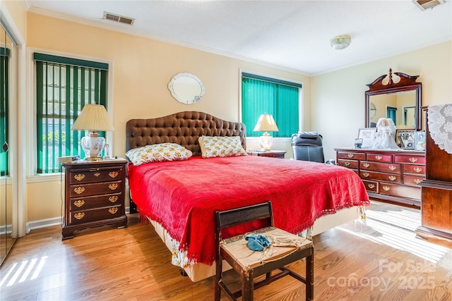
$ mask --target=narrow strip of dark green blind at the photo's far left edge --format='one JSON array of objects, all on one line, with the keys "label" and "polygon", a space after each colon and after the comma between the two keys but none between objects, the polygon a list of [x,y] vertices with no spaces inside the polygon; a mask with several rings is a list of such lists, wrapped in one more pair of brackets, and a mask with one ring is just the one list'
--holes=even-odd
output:
[{"label": "narrow strip of dark green blind at the photo's far left edge", "polygon": [[0,47],[0,176],[8,176],[8,54],[9,49]]}]

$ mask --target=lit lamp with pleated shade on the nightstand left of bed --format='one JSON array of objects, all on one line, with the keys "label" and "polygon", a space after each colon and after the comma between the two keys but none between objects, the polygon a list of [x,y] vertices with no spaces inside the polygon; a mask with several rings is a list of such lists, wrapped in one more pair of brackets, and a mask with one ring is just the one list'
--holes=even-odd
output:
[{"label": "lit lamp with pleated shade on the nightstand left of bed", "polygon": [[114,130],[112,121],[105,106],[101,104],[85,104],[72,125],[72,130],[90,130],[88,135],[82,137],[81,146],[85,152],[86,161],[100,161],[100,153],[105,146],[105,138],[99,137],[97,131]]}]

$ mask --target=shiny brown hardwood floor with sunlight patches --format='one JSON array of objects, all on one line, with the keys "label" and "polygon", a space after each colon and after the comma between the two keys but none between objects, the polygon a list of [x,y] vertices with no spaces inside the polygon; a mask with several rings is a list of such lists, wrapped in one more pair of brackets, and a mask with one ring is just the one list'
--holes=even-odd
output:
[{"label": "shiny brown hardwood floor with sunlight patches", "polygon": [[[314,299],[451,301],[452,250],[415,238],[420,212],[373,202],[367,216],[367,225],[314,237]],[[304,262],[292,269],[303,273]],[[59,226],[32,231],[17,240],[0,276],[0,300],[213,300],[212,279],[181,276],[137,214],[129,228],[104,226],[71,240],[61,241]],[[304,300],[304,285],[286,277],[256,290],[255,300]]]}]

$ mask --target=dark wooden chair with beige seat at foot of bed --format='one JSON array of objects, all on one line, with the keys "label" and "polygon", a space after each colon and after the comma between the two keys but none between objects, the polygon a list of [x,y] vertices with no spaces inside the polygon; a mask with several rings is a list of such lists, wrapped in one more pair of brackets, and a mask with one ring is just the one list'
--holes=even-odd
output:
[{"label": "dark wooden chair with beige seat at foot of bed", "polygon": [[[263,251],[250,250],[245,237],[249,233],[222,239],[222,229],[242,223],[261,220],[264,225],[253,233],[264,235],[271,245]],[[254,289],[267,285],[284,276],[292,276],[306,285],[306,300],[314,299],[314,245],[307,240],[273,226],[271,203],[256,204],[227,211],[215,211],[215,238],[217,258],[215,260],[215,301],[220,301],[221,290],[232,300],[242,296],[242,301],[254,298]],[[306,258],[306,277],[287,269],[285,265]],[[234,293],[222,279],[222,260],[232,266],[242,281],[242,290]],[[272,271],[279,273],[272,275]],[[263,280],[254,283],[254,278],[266,275]]]}]

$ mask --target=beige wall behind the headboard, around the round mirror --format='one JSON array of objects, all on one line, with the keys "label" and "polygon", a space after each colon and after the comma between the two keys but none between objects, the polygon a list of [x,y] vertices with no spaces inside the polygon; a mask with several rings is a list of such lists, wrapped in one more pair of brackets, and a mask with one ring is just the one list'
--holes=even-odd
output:
[{"label": "beige wall behind the headboard, around the round mirror", "polygon": [[[153,118],[178,111],[205,111],[228,121],[239,121],[241,68],[303,82],[304,104],[309,107],[310,78],[304,75],[35,13],[28,13],[27,24],[28,47],[112,63],[113,88],[109,97],[113,100],[116,130],[113,141],[109,143],[113,155],[124,157],[125,126],[131,118]],[[193,73],[203,81],[206,94],[197,104],[181,104],[172,98],[168,82],[181,72]],[[309,113],[304,116],[304,122],[309,125]],[[59,189],[57,181],[45,185],[28,184],[28,221],[59,216]]]}]

